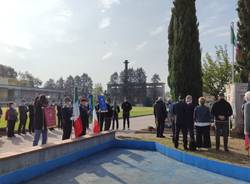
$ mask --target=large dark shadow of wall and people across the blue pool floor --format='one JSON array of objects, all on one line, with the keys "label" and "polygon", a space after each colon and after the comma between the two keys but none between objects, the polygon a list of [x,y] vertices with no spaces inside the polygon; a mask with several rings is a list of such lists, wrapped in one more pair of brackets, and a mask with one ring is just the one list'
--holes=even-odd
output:
[{"label": "large dark shadow of wall and people across the blue pool floor", "polygon": [[[123,158],[124,156],[130,161],[126,161],[126,159]],[[70,165],[66,165],[62,168],[52,171],[49,174],[31,180],[30,184],[80,184],[80,178],[83,178],[82,181],[85,181],[86,183],[88,183],[88,179],[90,180],[90,183],[93,181],[96,181],[97,183],[105,183],[104,178],[111,178],[115,183],[126,184],[128,181],[123,180],[120,177],[122,175],[119,175],[115,172],[116,168],[121,167],[125,169],[139,169],[144,172],[142,169],[136,166],[138,162],[141,162],[144,159],[145,158],[143,156],[125,149],[104,150],[100,153],[94,154],[90,157],[78,160]],[[84,176],[86,180],[82,176]],[[27,183],[29,184],[29,182]]]}]

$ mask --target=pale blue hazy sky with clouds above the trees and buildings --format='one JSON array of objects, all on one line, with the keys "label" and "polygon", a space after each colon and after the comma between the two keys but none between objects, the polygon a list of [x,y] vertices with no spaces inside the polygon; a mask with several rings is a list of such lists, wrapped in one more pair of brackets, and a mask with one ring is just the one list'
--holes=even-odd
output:
[{"label": "pale blue hazy sky with clouds above the trees and buildings", "polygon": [[[196,0],[203,55],[227,44],[236,0]],[[167,79],[171,0],[0,0],[0,63],[43,81],[88,73],[105,85],[110,74],[143,67],[148,80]]]}]

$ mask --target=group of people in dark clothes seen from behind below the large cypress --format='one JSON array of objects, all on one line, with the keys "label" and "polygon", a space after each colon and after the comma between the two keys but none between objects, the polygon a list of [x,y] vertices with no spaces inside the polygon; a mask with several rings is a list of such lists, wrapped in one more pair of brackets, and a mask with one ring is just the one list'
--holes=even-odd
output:
[{"label": "group of people in dark clothes seen from behind below the large cypress", "polygon": [[157,137],[164,137],[165,119],[168,117],[172,124],[175,148],[179,146],[179,134],[181,131],[185,150],[196,150],[196,148],[209,149],[211,148],[210,129],[213,124],[215,125],[216,150],[220,149],[220,136],[222,135],[224,151],[229,151],[229,117],[233,114],[231,105],[225,100],[224,94],[218,95],[218,100],[211,109],[206,106],[204,97],[200,97],[198,101],[199,105],[196,106],[193,103],[192,96],[188,95],[185,99],[179,97],[178,102],[168,103],[166,107],[162,98],[159,98],[154,105]]}]

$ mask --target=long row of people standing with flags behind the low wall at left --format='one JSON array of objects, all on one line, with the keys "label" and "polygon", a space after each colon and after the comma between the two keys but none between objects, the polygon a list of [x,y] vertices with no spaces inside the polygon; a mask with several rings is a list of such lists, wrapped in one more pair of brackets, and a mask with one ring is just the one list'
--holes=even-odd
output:
[{"label": "long row of people standing with flags behind the low wall at left", "polygon": [[[91,109],[88,104],[88,99],[82,97],[79,99],[79,113],[82,122],[82,133],[81,136],[86,135],[89,129],[89,121],[91,115]],[[112,129],[119,129],[119,113],[120,107],[118,104],[114,103],[111,105],[110,100],[106,100],[107,110],[102,112],[99,108],[99,104],[95,106],[96,114],[98,117],[100,131],[110,130],[111,123]],[[40,137],[42,135],[42,144],[47,143],[47,133],[48,127],[46,124],[45,112],[46,107],[54,107],[57,112],[57,126],[59,129],[63,130],[62,140],[69,139],[71,137],[72,126],[74,121],[73,105],[72,100],[69,97],[65,97],[63,104],[55,104],[54,101],[49,103],[48,98],[45,95],[37,96],[34,103],[27,104],[25,100],[22,100],[18,106],[18,110],[14,102],[8,104],[8,109],[5,114],[5,120],[7,121],[7,136],[15,137],[15,124],[19,120],[17,133],[26,134],[26,123],[29,117],[29,132],[34,133],[33,146],[38,145]],[[123,110],[123,129],[125,130],[125,125],[127,122],[127,127],[129,129],[130,122],[130,111],[132,110],[132,105],[124,99],[121,105]],[[3,111],[0,108],[0,118],[2,117]],[[116,124],[116,125],[115,125]],[[54,128],[49,128],[53,131]]]}]

